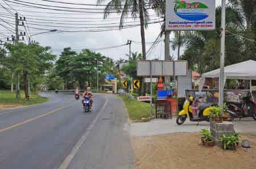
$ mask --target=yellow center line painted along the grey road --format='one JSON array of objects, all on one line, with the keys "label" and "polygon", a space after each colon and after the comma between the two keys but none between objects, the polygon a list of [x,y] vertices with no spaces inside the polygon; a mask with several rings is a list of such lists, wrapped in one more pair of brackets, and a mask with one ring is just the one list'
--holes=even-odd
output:
[{"label": "yellow center line painted along the grey road", "polygon": [[[77,103],[77,102],[76,102],[76,103]],[[0,133],[5,132],[6,130],[10,130],[10,129],[13,129],[13,128],[15,128],[15,127],[18,127],[18,126],[20,126],[20,125],[27,124],[28,122],[34,121],[34,120],[39,119],[39,118],[41,118],[41,117],[50,115],[50,114],[55,113],[55,112],[57,112],[57,111],[59,111],[59,110],[61,110],[61,109],[67,108],[67,107],[69,107],[69,106],[71,106],[71,105],[73,105],[73,104],[75,104],[75,103],[72,103],[72,104],[66,105],[66,106],[64,106],[64,107],[55,109],[55,110],[53,110],[53,111],[51,111],[51,112],[44,113],[43,115],[36,116],[36,117],[34,117],[34,118],[32,118],[32,119],[28,119],[28,120],[19,122],[19,123],[17,123],[17,124],[11,125],[11,126],[9,126],[9,127],[7,127],[7,128],[0,129]]]}]

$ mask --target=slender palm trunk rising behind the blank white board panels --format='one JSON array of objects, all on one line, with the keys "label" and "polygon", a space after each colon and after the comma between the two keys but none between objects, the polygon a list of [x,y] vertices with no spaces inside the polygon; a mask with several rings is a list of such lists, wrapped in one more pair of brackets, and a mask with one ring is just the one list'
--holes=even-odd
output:
[{"label": "slender palm trunk rising behind the blank white board panels", "polygon": [[[146,56],[146,41],[145,41],[145,31],[144,31],[144,15],[143,15],[143,0],[139,0],[139,19],[141,22],[141,43],[142,43],[142,55],[143,60],[147,59]],[[143,95],[146,95],[146,83],[142,83]]]}]

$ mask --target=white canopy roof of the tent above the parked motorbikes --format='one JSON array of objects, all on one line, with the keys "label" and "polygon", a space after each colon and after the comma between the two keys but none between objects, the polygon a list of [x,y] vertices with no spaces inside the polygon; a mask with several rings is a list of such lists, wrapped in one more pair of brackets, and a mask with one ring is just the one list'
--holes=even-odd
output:
[{"label": "white canopy roof of the tent above the parked motorbikes", "polygon": [[[256,79],[256,61],[248,60],[226,66],[224,75],[227,79]],[[203,78],[217,78],[219,76],[220,69],[209,71],[202,75]]]}]

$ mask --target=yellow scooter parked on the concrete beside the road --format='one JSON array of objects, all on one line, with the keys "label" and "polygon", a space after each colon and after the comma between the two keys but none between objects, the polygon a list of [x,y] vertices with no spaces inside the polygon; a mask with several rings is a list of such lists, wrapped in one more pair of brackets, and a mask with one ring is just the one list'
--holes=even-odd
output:
[{"label": "yellow scooter parked on the concrete beside the road", "polygon": [[[210,107],[211,106],[216,106],[216,103],[200,103],[199,99],[194,99],[192,96],[190,96],[187,100],[185,100],[183,104],[183,110],[179,112],[176,123],[178,125],[183,124],[186,119],[188,118],[190,121],[194,122],[200,122],[200,121],[210,121],[209,115],[210,115]],[[193,112],[192,112],[192,105],[196,104],[199,105],[198,108],[198,117],[193,117]]]}]

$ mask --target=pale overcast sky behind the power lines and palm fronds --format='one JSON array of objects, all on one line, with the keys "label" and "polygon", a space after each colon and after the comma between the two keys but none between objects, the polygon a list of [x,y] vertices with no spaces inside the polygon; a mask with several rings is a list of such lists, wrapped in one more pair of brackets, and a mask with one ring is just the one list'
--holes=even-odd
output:
[{"label": "pale overcast sky behind the power lines and palm fronds", "polygon": [[[42,0],[19,0],[23,1],[23,4],[25,5],[31,5],[31,6],[38,6],[33,4],[28,4],[25,2],[30,3],[38,3],[40,5],[51,5],[51,6],[63,6],[63,7],[73,7],[73,8],[88,8],[88,6],[81,6],[81,5],[68,5],[68,4],[61,4],[61,3],[53,3],[53,2],[47,2]],[[86,4],[96,4],[96,0],[52,0],[52,1],[59,1],[59,2],[68,2],[68,3],[86,3]],[[14,2],[14,3],[12,3]],[[109,0],[106,0],[105,2],[109,2]],[[7,3],[7,4],[6,4]],[[117,14],[110,14],[110,18],[108,20],[103,20],[103,14],[99,13],[77,13],[77,12],[68,12],[68,11],[52,11],[47,10],[48,7],[46,6],[40,6],[44,7],[46,9],[38,9],[35,7],[28,7],[24,5],[20,5],[15,0],[9,0],[9,2],[4,2],[4,0],[0,0],[0,19],[4,19],[5,22],[0,22],[4,24],[5,26],[11,28],[10,23],[14,22],[14,17],[11,16],[10,12],[15,12],[14,10],[18,11],[20,15],[26,16],[27,20],[27,26],[30,28],[26,28],[27,32],[32,35],[35,33],[44,32],[42,29],[57,29],[57,30],[77,30],[78,28],[63,28],[63,27],[95,27],[92,25],[86,25],[86,23],[89,24],[100,24],[100,27],[104,26],[110,26],[112,23],[118,23],[119,22],[119,15]],[[106,3],[104,3],[105,5]],[[216,5],[220,5],[221,0],[216,1]],[[10,5],[13,9],[10,8]],[[3,9],[5,7],[10,12]],[[104,8],[98,7],[99,9]],[[55,8],[56,9],[56,8]],[[69,10],[69,9],[67,9]],[[80,10],[81,11],[81,10]],[[88,11],[88,10],[87,10]],[[92,11],[92,10],[90,10]],[[93,11],[102,11],[102,10],[93,10]],[[46,14],[46,12],[55,12],[55,14]],[[3,15],[10,15],[7,16],[9,18],[3,17]],[[19,15],[19,16],[20,16]],[[150,15],[155,15],[154,11],[150,11]],[[87,18],[96,18],[96,19],[87,19]],[[53,21],[45,21],[46,20],[55,20]],[[157,21],[156,16],[152,16],[151,19],[154,19],[150,22]],[[0,21],[1,21],[0,20]],[[68,20],[71,20],[72,22],[68,22]],[[97,20],[97,22],[96,22]],[[158,20],[162,20],[161,18]],[[77,26],[76,23],[83,22],[84,25]],[[90,21],[90,22],[88,22]],[[92,22],[93,21],[93,22]],[[137,22],[134,22],[134,20],[126,19],[125,22],[133,22],[133,23],[126,23],[129,24],[139,24],[139,20],[137,19]],[[6,23],[9,22],[9,25]],[[36,23],[37,22],[37,23]],[[47,23],[46,23],[47,22]],[[52,23],[53,22],[53,23]],[[54,24],[59,23],[59,24]],[[67,23],[67,24],[61,24],[61,23]],[[73,23],[73,25],[68,24]],[[40,26],[40,24],[42,26]],[[47,26],[45,26],[47,25]],[[25,24],[26,26],[26,24]],[[112,26],[118,26],[118,24],[113,24]],[[31,28],[33,27],[33,28]],[[20,27],[19,27],[20,28]],[[39,28],[39,29],[34,29]],[[89,28],[86,28],[88,30]],[[96,28],[91,28],[96,29]],[[109,28],[112,29],[112,28]],[[81,30],[81,28],[79,29]],[[85,29],[82,29],[85,30]],[[25,31],[23,27],[20,28],[20,31]],[[150,24],[148,28],[146,29],[146,50],[148,50],[151,47],[152,42],[155,41],[156,37],[158,37],[160,32],[160,23]],[[13,35],[12,32],[7,30],[4,27],[0,28],[0,33],[4,35],[8,35],[9,37]],[[3,36],[3,35],[2,35]],[[1,37],[4,38],[4,37]],[[122,29],[121,31],[115,30],[115,31],[106,31],[106,32],[50,32],[50,33],[44,33],[42,35],[36,35],[32,36],[32,39],[35,41],[38,41],[43,46],[50,46],[52,47],[52,52],[54,54],[59,55],[63,48],[65,47],[71,47],[72,49],[75,49],[77,52],[81,51],[81,49],[88,48],[88,49],[98,49],[98,48],[105,48],[105,47],[113,47],[116,45],[122,45],[126,44],[127,40],[132,40],[131,43],[131,52],[138,52],[141,53],[141,32],[139,27],[134,28],[127,28]],[[163,37],[160,39],[158,45],[148,54],[147,59],[155,59],[158,58],[159,60],[164,59],[164,42]],[[26,41],[27,42],[27,41]],[[184,48],[181,48],[181,53],[183,52]],[[104,54],[107,57],[112,58],[113,60],[118,60],[119,58],[125,58],[127,59],[126,54],[129,54],[129,45],[124,45],[122,47],[113,48],[113,49],[105,49],[105,50],[95,50],[96,52],[100,52]],[[177,51],[170,52],[171,55],[173,55],[175,58],[177,56]]]}]

